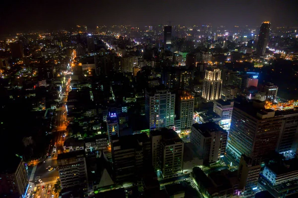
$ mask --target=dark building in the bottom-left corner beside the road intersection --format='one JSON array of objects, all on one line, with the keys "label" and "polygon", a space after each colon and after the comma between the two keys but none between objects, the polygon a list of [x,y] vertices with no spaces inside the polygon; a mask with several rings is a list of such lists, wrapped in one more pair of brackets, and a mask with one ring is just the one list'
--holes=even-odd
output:
[{"label": "dark building in the bottom-left corner beside the road intersection", "polygon": [[0,197],[22,198],[28,191],[28,178],[23,159],[16,155],[6,155],[0,163]]}]

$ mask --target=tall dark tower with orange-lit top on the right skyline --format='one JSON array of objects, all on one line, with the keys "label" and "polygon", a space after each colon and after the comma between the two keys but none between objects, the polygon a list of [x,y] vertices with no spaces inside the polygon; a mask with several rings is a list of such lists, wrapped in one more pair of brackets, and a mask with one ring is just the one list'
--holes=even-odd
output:
[{"label": "tall dark tower with orange-lit top on the right skyline", "polygon": [[265,54],[269,41],[270,22],[264,21],[260,27],[259,39],[257,44],[257,56]]}]

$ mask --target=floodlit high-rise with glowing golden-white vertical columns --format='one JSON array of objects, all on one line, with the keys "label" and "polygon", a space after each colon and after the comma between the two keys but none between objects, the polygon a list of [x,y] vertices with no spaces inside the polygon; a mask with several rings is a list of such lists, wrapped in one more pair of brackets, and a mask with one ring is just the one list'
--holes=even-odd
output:
[{"label": "floodlit high-rise with glowing golden-white vertical columns", "polygon": [[209,100],[220,99],[222,94],[223,80],[220,69],[208,68],[205,73],[202,98]]}]

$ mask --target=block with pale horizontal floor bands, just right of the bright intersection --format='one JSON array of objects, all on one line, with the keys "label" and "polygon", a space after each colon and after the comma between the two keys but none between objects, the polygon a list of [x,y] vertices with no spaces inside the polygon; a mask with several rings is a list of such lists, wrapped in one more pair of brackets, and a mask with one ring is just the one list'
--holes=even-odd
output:
[{"label": "block with pale horizontal floor bands, just right of the bright intersection", "polygon": [[58,154],[57,165],[61,188],[80,187],[87,190],[87,167],[84,150]]}]

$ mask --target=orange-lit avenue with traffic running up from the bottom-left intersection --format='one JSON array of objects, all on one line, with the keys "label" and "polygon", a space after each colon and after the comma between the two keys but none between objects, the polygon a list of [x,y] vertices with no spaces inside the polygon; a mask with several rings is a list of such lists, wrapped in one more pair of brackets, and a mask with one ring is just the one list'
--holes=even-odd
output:
[{"label": "orange-lit avenue with traffic running up from the bottom-left intersection", "polygon": [[[63,144],[66,138],[66,128],[67,128],[67,112],[65,104],[68,98],[68,92],[70,89],[70,77],[66,79],[67,85],[63,86],[62,93],[65,93],[65,97],[62,97],[60,100],[60,107],[56,109],[56,121],[55,128],[52,131],[53,140],[51,141],[51,147],[49,150],[49,156],[45,159],[44,162],[40,162],[33,167],[33,171],[30,174],[29,182],[32,185],[32,191],[34,187],[37,187],[37,191],[34,195],[34,198],[41,196],[41,198],[52,198],[54,194],[53,187],[59,178],[57,167],[57,156],[59,153],[63,152]],[[47,169],[48,166],[53,167],[52,170]],[[38,180],[41,179],[42,183]],[[44,190],[42,190],[44,187]],[[49,193],[49,194],[48,194]],[[53,198],[58,198],[59,195],[54,194]]]}]

